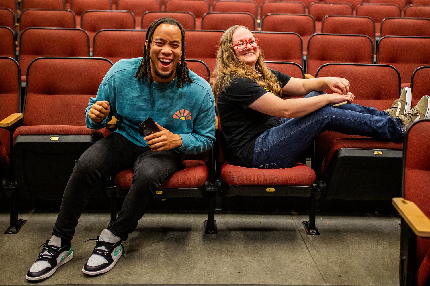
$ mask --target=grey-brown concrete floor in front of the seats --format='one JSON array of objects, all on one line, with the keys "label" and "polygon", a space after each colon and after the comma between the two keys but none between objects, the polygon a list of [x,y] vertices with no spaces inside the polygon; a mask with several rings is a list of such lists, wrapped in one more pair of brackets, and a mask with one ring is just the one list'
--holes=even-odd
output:
[{"label": "grey-brown concrete floor in front of the seats", "polygon": [[[37,247],[51,237],[55,213],[25,213],[16,235],[0,234],[0,285],[29,284]],[[109,214],[83,214],[74,257],[38,284],[399,285],[399,217],[321,215],[321,235],[304,231],[301,214],[215,214],[218,235],[205,235],[205,214],[145,214],[124,242],[117,265],[99,277],[81,272]],[[9,215],[0,214],[0,230]]]}]

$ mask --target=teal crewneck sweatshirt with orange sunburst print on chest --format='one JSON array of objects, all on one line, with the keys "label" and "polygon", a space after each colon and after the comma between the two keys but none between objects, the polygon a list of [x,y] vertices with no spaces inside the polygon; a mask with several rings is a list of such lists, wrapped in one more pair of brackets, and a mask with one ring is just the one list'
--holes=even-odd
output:
[{"label": "teal crewneck sweatshirt with orange sunburst print on chest", "polygon": [[[160,126],[181,135],[182,146],[175,148],[184,154],[208,151],[215,141],[215,99],[207,81],[190,70],[193,83],[176,86],[178,79],[167,83],[135,78],[142,58],[120,60],[107,72],[86,108],[86,126],[101,129],[112,116],[118,119],[117,130],[139,146],[148,146],[138,125],[152,117]],[[88,117],[96,101],[106,100],[111,109],[99,123]]]}]

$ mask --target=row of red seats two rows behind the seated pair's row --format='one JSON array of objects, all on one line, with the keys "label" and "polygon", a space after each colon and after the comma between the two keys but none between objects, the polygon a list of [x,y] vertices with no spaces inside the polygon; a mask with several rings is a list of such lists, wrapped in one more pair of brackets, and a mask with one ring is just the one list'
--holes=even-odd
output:
[{"label": "row of red seats two rows behind the seated pair's row", "polygon": [[[276,4],[276,2],[275,2]],[[384,12],[372,14],[372,10],[365,11],[364,8],[368,6],[362,6],[363,13],[371,15],[351,16],[344,15],[342,18],[338,18],[336,23],[338,28],[331,28],[332,30],[341,30],[343,33],[349,34],[365,34],[370,36],[372,39],[376,36],[380,36],[380,30],[382,30],[381,23],[387,18],[396,18],[396,20],[390,20],[390,24],[385,21],[385,31],[382,31],[382,36],[428,36],[428,19],[429,18],[402,18],[399,16],[400,12],[396,10],[390,11],[384,10]],[[430,6],[429,12],[430,12]],[[283,12],[283,11],[281,11]],[[297,11],[299,12],[299,11]],[[341,14],[341,13],[339,13]],[[8,16],[9,15],[9,16]],[[74,14],[70,10],[43,10],[43,9],[29,9],[25,10],[21,15],[20,30],[23,31],[28,27],[58,27],[58,28],[74,28],[81,27],[89,32],[97,32],[101,29],[135,29],[136,27],[147,27],[152,21],[168,16],[178,20],[185,30],[226,30],[233,24],[242,24],[249,27],[250,30],[256,30],[255,17],[250,13],[230,13],[230,12],[210,12],[204,14],[201,21],[201,26],[196,26],[196,19],[190,12],[156,12],[149,11],[145,12],[141,17],[140,23],[136,23],[135,16],[129,11],[99,11],[89,10],[83,13],[84,17],[81,18],[79,25],[76,23]],[[15,28],[14,18],[9,9],[0,8],[0,26],[6,26]],[[261,30],[271,32],[295,32],[301,35],[310,36],[315,32],[331,33],[330,30],[322,30],[322,22],[328,17],[333,15],[321,15],[308,14],[295,14],[286,15],[278,13],[269,13],[264,15],[261,20]],[[322,17],[322,18],[321,18]],[[336,15],[335,17],[341,17]],[[367,19],[362,19],[366,17]],[[381,18],[383,17],[383,18]],[[334,18],[330,18],[334,21]],[[302,27],[304,25],[304,27]],[[311,27],[311,30],[308,27]],[[326,25],[327,26],[327,25]],[[360,33],[365,30],[364,33]],[[370,31],[373,30],[373,31]]]}]

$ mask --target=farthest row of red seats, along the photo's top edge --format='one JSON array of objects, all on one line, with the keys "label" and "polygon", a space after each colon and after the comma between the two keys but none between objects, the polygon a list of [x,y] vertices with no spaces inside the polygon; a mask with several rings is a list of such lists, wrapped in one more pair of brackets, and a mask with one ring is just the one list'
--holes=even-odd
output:
[{"label": "farthest row of red seats, along the photo's top edge", "polygon": [[[142,2],[145,3],[145,6],[136,6],[136,5],[125,5],[125,6],[117,6],[117,10],[127,10],[132,12],[135,17],[138,18],[137,25],[141,23],[142,15],[144,15],[147,11],[161,11],[161,5],[158,3],[158,0],[147,0],[149,2]],[[155,2],[151,2],[155,1]],[[182,3],[181,1],[185,1]],[[187,1],[191,1],[190,3],[187,3]],[[166,3],[166,11],[171,12],[190,12],[194,15],[195,21],[197,21],[197,29],[200,29],[201,27],[201,20],[203,18],[203,15],[206,13],[211,12],[211,9],[209,9],[208,3],[205,2],[206,0],[170,0]],[[150,3],[154,3],[154,5],[151,5]],[[218,4],[219,3],[219,4]],[[189,4],[189,5],[187,5]],[[193,5],[194,4],[194,5]],[[261,5],[261,12],[258,15],[258,9],[257,5],[255,3],[252,3],[252,1],[218,1],[218,4],[214,6],[212,12],[243,12],[243,13],[249,13],[254,17],[254,26],[257,24],[258,21],[255,21],[256,19],[263,18],[264,15],[267,15],[268,13],[288,13],[288,14],[305,14],[308,12],[309,15],[312,15],[313,18],[316,21],[317,25],[317,31],[320,31],[320,24],[322,21],[322,18],[326,15],[354,15],[353,12],[353,6],[349,3],[311,3],[309,6],[309,9],[306,9],[305,5],[300,2],[282,2],[282,1],[266,1]],[[250,6],[249,6],[250,5]],[[185,8],[186,7],[186,8]],[[429,6],[430,7],[430,6]],[[412,17],[429,17],[428,14],[428,8],[426,6],[408,6],[408,10],[411,10],[411,12],[405,11],[405,16],[409,17],[411,14]],[[107,6],[86,6],[82,9],[74,9],[74,14],[76,18],[76,26],[80,27],[80,17],[83,15],[83,13],[89,9],[95,9],[95,10],[110,10],[111,8]],[[370,16],[374,19],[375,22],[380,23],[383,18],[386,17],[400,17],[402,16],[402,8],[396,4],[360,4],[355,12],[355,15],[360,16]],[[415,11],[421,11],[418,12]],[[427,11],[426,11],[427,10]],[[9,10],[12,12],[12,10]],[[6,13],[3,11],[3,14]],[[427,13],[427,14],[426,14]],[[9,13],[10,14],[10,13]],[[13,12],[12,15],[5,15],[8,16],[8,18],[11,18],[13,20]],[[114,17],[113,15],[111,17]],[[11,21],[9,20],[9,21]],[[107,20],[107,19],[106,19]],[[114,18],[114,21],[116,18]],[[3,20],[4,21],[4,20]],[[1,23],[0,23],[1,24]],[[146,27],[146,25],[142,25],[141,27]],[[256,27],[256,26],[255,26]],[[23,30],[23,29],[22,29]],[[252,30],[255,30],[252,29]],[[377,30],[378,27],[377,27]]]}]

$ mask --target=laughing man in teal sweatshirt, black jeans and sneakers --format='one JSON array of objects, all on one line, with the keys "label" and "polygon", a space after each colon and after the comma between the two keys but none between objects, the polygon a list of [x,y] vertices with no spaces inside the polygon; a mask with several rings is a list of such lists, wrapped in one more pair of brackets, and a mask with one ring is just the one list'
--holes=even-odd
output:
[{"label": "laughing man in teal sweatshirt, black jeans and sneakers", "polygon": [[[181,60],[181,63],[178,63]],[[91,76],[91,75],[89,75]],[[171,18],[147,30],[143,58],[120,60],[107,72],[86,108],[86,126],[101,129],[115,116],[117,130],[77,160],[64,191],[52,238],[47,240],[27,280],[44,280],[73,257],[71,240],[96,181],[124,169],[132,186],[117,220],[104,229],[82,271],[96,276],[111,270],[160,184],[181,166],[184,154],[212,148],[215,104],[210,85],[185,63],[184,29]],[[145,136],[138,125],[152,117],[159,132]]]}]

